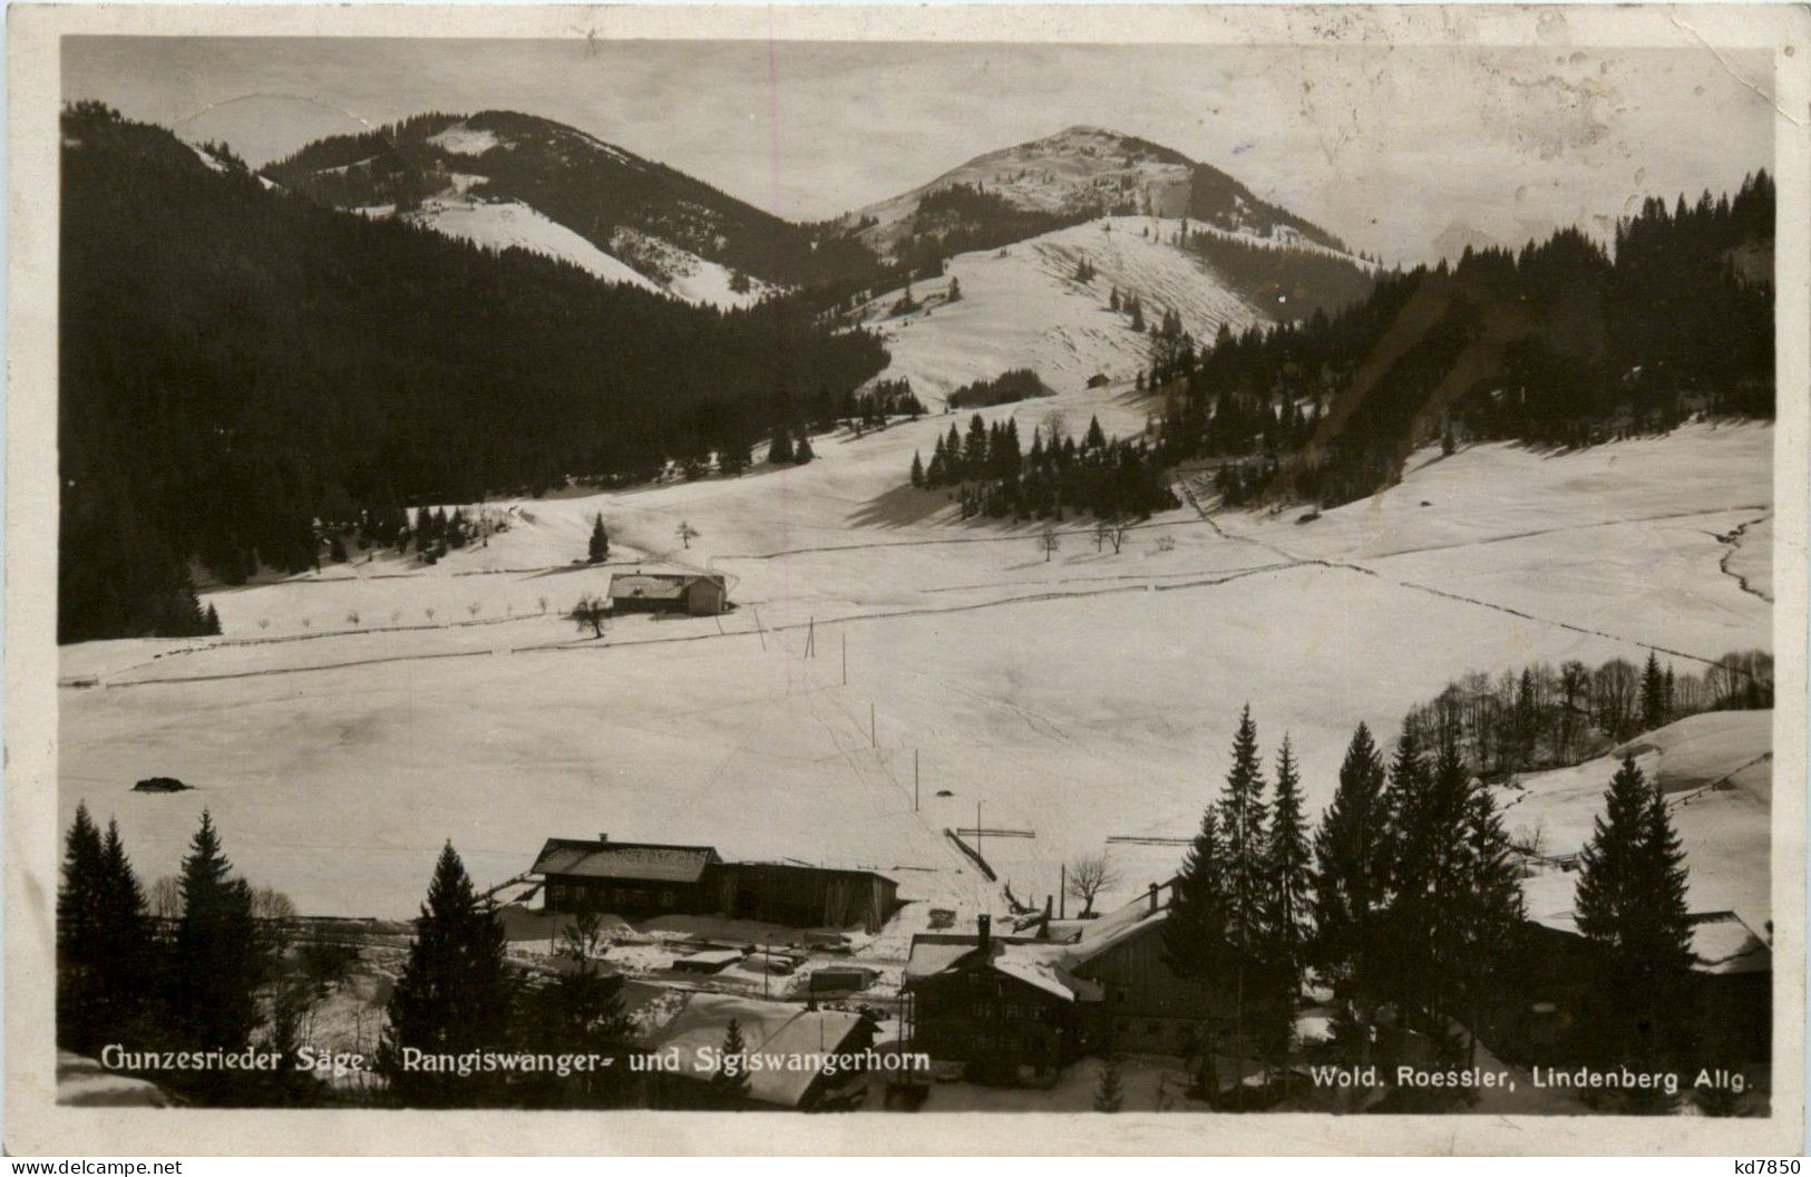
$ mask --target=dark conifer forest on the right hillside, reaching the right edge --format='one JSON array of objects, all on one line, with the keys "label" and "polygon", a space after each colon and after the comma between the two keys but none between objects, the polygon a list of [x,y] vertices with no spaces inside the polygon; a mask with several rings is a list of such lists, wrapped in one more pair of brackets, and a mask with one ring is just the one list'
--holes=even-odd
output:
[{"label": "dark conifer forest on the right hillside, reaching the right edge", "polygon": [[1161,449],[1295,453],[1251,493],[1333,505],[1442,436],[1581,445],[1699,409],[1771,415],[1773,217],[1760,172],[1735,196],[1650,199],[1608,250],[1577,230],[1467,250],[1344,311],[1222,333],[1177,373]]}]

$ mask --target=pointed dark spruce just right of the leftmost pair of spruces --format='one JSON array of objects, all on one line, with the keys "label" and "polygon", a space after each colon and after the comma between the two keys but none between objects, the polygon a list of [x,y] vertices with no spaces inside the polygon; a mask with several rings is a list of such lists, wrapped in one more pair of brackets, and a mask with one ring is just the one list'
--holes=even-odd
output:
[{"label": "pointed dark spruce just right of the leftmost pair of spruces", "polygon": [[206,809],[188,842],[179,884],[183,914],[170,958],[170,1003],[179,1034],[199,1050],[237,1050],[257,1027],[264,960],[257,951],[252,889],[232,876]]}]

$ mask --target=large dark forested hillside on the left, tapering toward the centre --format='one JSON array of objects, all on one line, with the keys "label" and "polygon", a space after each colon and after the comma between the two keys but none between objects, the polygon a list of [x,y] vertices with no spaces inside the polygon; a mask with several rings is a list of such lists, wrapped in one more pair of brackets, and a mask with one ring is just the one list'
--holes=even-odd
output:
[{"label": "large dark forested hillside on the left, tapering toward the centre", "polygon": [[692,308],[331,212],[94,103],[63,138],[63,641],[197,632],[190,561],[297,572],[317,520],[746,453],[886,364],[793,301]]}]

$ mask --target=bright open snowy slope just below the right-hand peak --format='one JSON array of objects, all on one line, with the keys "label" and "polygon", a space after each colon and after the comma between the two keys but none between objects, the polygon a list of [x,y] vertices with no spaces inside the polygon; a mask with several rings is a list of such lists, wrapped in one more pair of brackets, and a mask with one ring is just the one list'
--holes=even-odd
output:
[{"label": "bright open snowy slope just below the right-hand peak", "polygon": [[[913,284],[924,310],[893,315],[902,290],[864,308],[864,322],[886,335],[893,355],[880,378],[909,377],[920,397],[938,398],[1009,368],[1032,368],[1059,389],[1096,373],[1130,382],[1150,366],[1152,340],[1108,310],[1114,288],[1139,295],[1146,321],[1179,311],[1197,340],[1212,340],[1221,324],[1241,331],[1268,322],[1201,257],[1170,244],[1175,230],[1175,221],[1155,217],[1101,217],[951,259],[944,277]],[[1087,284],[1076,281],[1081,259],[1097,272]],[[951,279],[962,288],[958,302],[945,301]]]}]

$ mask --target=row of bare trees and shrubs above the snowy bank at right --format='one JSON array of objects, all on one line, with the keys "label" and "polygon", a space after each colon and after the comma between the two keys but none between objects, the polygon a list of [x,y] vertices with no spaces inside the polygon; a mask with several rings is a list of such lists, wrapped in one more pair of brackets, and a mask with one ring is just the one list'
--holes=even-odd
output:
[{"label": "row of bare trees and shrubs above the snowy bank at right", "polygon": [[1701,712],[1771,706],[1771,654],[1726,654],[1701,674],[1679,674],[1650,652],[1643,666],[1617,657],[1597,668],[1568,661],[1469,674],[1411,710],[1404,726],[1422,744],[1451,732],[1469,771],[1503,779],[1577,764]]}]

